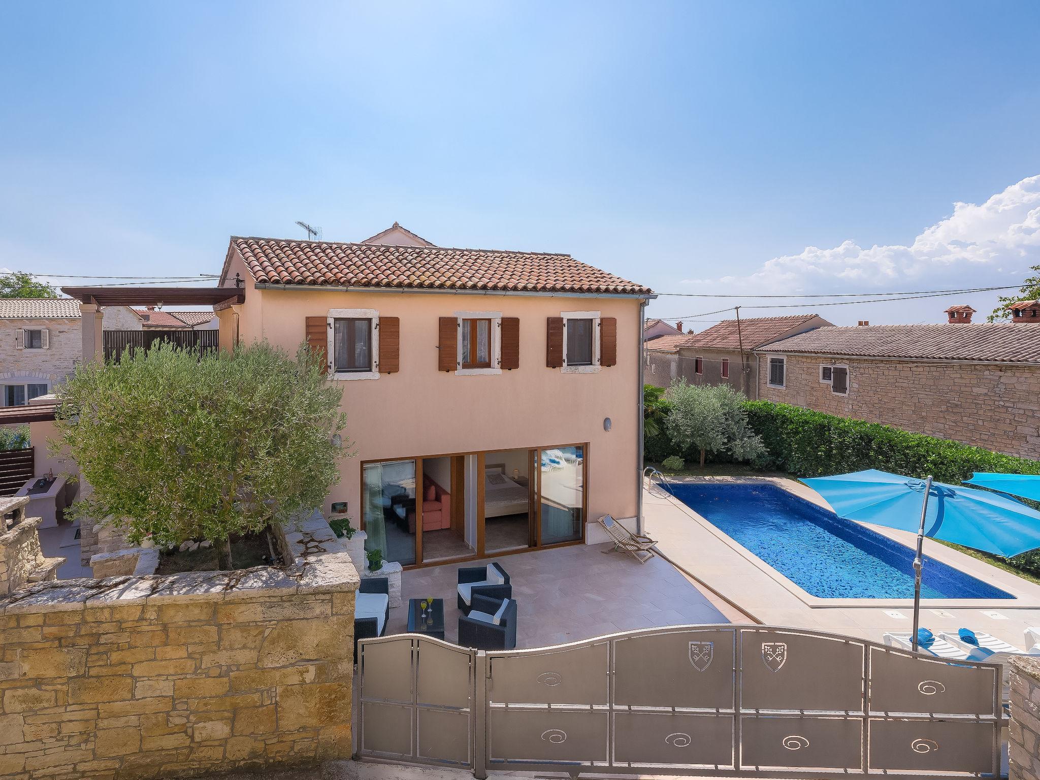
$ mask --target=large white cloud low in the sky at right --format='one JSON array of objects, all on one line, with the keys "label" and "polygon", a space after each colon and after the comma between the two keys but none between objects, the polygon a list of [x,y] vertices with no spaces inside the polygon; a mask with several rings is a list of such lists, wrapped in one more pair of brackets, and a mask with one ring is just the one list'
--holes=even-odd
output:
[{"label": "large white cloud low in the sky at right", "polygon": [[685,280],[699,287],[760,293],[870,292],[1014,284],[1040,263],[1040,176],[1022,179],[985,203],[956,203],[954,213],[909,245],[864,249],[847,240],[775,257],[744,277]]}]

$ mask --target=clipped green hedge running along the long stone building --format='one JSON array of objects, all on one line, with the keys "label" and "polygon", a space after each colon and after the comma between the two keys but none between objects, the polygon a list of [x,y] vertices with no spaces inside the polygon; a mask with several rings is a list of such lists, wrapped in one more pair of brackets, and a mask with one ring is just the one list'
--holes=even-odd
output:
[{"label": "clipped green hedge running along the long stone building", "polygon": [[768,400],[747,401],[748,420],[769,454],[762,463],[796,476],[825,476],[863,469],[954,485],[974,471],[1040,474],[1040,461],[991,452],[948,439],[852,420]]}]

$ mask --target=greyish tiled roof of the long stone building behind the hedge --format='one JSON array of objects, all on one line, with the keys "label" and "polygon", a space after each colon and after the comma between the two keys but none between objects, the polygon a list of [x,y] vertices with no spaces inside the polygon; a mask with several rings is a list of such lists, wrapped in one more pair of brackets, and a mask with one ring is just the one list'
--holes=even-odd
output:
[{"label": "greyish tiled roof of the long stone building behind the hedge", "polygon": [[817,328],[761,352],[906,360],[1040,363],[1040,326],[962,322]]}]

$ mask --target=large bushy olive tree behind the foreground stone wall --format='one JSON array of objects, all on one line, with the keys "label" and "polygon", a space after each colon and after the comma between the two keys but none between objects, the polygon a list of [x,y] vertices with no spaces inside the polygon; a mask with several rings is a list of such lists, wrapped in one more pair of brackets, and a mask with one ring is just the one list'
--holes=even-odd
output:
[{"label": "large bushy olive tree behind the foreground stone wall", "polygon": [[199,356],[160,344],[85,362],[57,390],[58,436],[90,486],[74,513],[160,545],[229,538],[319,506],[344,457],[323,361],[266,343]]}]

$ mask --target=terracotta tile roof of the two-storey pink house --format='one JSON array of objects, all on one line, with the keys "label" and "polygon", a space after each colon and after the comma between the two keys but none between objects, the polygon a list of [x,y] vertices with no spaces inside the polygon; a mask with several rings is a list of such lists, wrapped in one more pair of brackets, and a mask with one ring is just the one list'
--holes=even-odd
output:
[{"label": "terracotta tile roof of the two-storey pink house", "polygon": [[260,284],[651,294],[570,255],[239,236],[231,244]]}]

